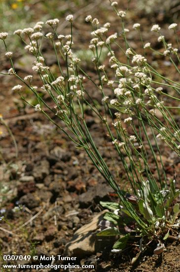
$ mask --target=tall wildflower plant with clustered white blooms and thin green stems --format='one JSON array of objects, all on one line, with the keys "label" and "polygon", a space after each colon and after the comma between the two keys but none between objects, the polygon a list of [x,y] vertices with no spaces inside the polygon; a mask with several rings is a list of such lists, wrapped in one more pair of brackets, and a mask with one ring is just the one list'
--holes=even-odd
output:
[{"label": "tall wildflower plant with clustered white blooms and thin green stems", "polygon": [[[139,257],[152,241],[157,245],[154,253],[161,253],[164,250],[163,241],[170,234],[177,236],[177,229],[180,227],[178,218],[180,208],[179,203],[176,203],[180,192],[176,189],[175,178],[168,181],[162,160],[163,146],[167,146],[168,150],[173,150],[180,156],[180,128],[174,119],[174,112],[179,108],[177,102],[180,101],[178,97],[180,84],[160,74],[148,61],[145,50],[153,52],[155,50],[150,43],[144,45],[139,23],[134,24],[133,29],[140,35],[144,55],[137,53],[130,46],[127,39],[129,29],[124,27],[126,12],[119,11],[115,1],[111,2],[111,6],[121,20],[120,38],[123,38],[124,45],[118,43],[117,33],[108,36],[110,23],[100,26],[97,18],[92,18],[91,15],[85,18],[92,26],[89,50],[93,53],[92,62],[96,67],[95,80],[81,67],[80,59],[73,52],[73,15],[66,17],[71,25],[71,34],[67,36],[59,35],[57,32],[58,19],[46,21],[52,32],[45,36],[42,30],[43,22],[37,22],[34,28],[18,29],[14,32],[23,42],[24,36],[29,39],[29,43],[25,42],[25,49],[36,57],[32,71],[39,76],[41,91],[33,85],[34,75],[27,75],[22,79],[16,73],[13,54],[8,51],[5,42],[8,33],[0,33],[0,40],[5,45],[6,56],[11,63],[8,75],[17,77],[34,93],[37,104],[32,106],[35,110],[44,114],[58,129],[69,136],[77,148],[85,150],[117,194],[119,203],[101,203],[103,207],[111,210],[105,215],[105,220],[110,225],[102,229],[98,235],[118,235],[119,239],[114,244],[115,250],[123,250],[136,238],[136,244],[139,243],[140,248],[137,255]],[[169,26],[169,30],[173,30],[177,38],[176,28],[175,23]],[[161,35],[159,25],[153,25],[151,31],[158,34],[158,42],[164,46],[164,52],[156,51],[156,54],[168,57],[180,74],[176,64],[177,61],[180,62],[178,48],[167,44],[165,37]],[[58,75],[46,65],[40,49],[44,39],[49,40],[54,49],[59,67]],[[178,38],[177,45],[179,46]],[[115,49],[112,49],[114,46],[121,52],[125,61],[121,62],[116,56]],[[110,78],[109,68],[100,62],[104,47],[108,49],[110,74],[113,74]],[[60,63],[60,58],[65,63],[66,71]],[[91,97],[86,87],[87,81],[99,91],[102,96],[101,102]],[[12,91],[19,92],[21,98],[28,102],[22,90],[22,85],[12,88]],[[48,104],[40,95],[41,92],[48,94],[54,106]],[[171,99],[173,106],[169,106],[168,99]],[[129,184],[126,190],[110,172],[96,139],[92,137],[86,123],[87,108],[106,128],[108,141],[120,157]]]}]

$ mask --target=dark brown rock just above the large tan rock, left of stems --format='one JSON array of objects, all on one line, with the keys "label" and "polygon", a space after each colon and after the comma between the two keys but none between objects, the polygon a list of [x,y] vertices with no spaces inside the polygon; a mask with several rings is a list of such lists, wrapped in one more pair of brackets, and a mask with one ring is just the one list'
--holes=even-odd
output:
[{"label": "dark brown rock just above the large tan rock, left of stems", "polygon": [[109,192],[112,189],[108,184],[98,183],[97,186],[90,187],[87,192],[79,195],[79,207],[87,208],[94,201],[95,203],[99,203],[100,200],[109,201]]}]

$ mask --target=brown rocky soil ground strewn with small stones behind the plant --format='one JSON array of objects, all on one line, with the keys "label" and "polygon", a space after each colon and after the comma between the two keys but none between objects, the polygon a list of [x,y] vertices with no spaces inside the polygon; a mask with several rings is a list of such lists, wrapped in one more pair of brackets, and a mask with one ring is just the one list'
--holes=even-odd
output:
[{"label": "brown rocky soil ground strewn with small stones behind the plant", "polygon": [[[73,12],[76,14],[75,49],[88,47],[90,27],[84,23],[84,17],[89,13],[97,16],[102,24],[109,21],[112,33],[120,31],[114,13],[108,7],[108,1],[100,1],[96,9],[92,8],[92,5],[91,9],[89,7],[90,10],[87,8],[89,1],[81,2],[81,9],[72,7],[70,10],[72,14]],[[39,13],[40,4],[39,1]],[[127,1],[123,0],[120,8],[126,9]],[[150,26],[155,21],[161,24],[163,32],[169,41],[173,42],[174,38],[166,31],[172,18],[167,18],[166,13],[161,13],[156,18],[143,16],[137,9],[137,2],[131,1],[126,27],[132,29],[133,23],[141,23],[144,40],[146,42],[150,40],[152,45],[158,48],[157,37],[153,38],[153,35],[149,34]],[[68,34],[69,29],[66,23],[63,24],[60,25],[60,33]],[[136,33],[132,31],[129,37],[131,45],[138,49],[141,42]],[[55,69],[57,63],[51,48],[45,48],[45,55],[49,65]],[[29,59],[19,52],[17,57],[16,59],[15,55],[18,73],[24,77],[31,71]],[[153,57],[152,60],[157,61]],[[161,60],[158,69],[168,74],[170,78],[178,80],[178,75],[169,69],[168,65],[166,60]],[[10,68],[3,57],[0,66],[0,71]],[[90,73],[94,75],[93,68]],[[72,239],[73,233],[103,210],[100,201],[117,199],[111,195],[112,189],[85,152],[75,148],[66,135],[58,131],[40,113],[25,105],[18,94],[12,95],[11,88],[16,84],[18,84],[16,80],[11,81],[9,77],[0,75],[0,114],[12,131],[18,147],[16,157],[13,139],[5,126],[1,125],[0,216],[4,216],[5,220],[0,221],[0,249],[3,254],[63,255],[65,245]],[[36,85],[38,86],[38,81]],[[98,99],[94,90],[92,93]],[[29,97],[30,94],[27,95]],[[180,122],[179,113],[176,114],[177,122]],[[93,137],[102,148],[101,153],[110,171],[116,173],[118,170],[117,180],[125,187],[126,180],[121,171],[120,159],[111,150],[110,144],[107,144],[106,132],[99,126],[99,120],[91,112],[86,112],[86,120]],[[172,177],[176,173],[180,182],[180,159],[165,149],[162,157],[167,175]],[[109,246],[94,255],[78,258],[78,264],[94,265],[93,270],[83,270],[89,272],[180,272],[178,241],[167,243],[166,251],[158,256],[153,255],[153,249],[149,248],[134,266],[131,265],[131,259],[136,254],[135,248],[121,254],[112,254]]]}]

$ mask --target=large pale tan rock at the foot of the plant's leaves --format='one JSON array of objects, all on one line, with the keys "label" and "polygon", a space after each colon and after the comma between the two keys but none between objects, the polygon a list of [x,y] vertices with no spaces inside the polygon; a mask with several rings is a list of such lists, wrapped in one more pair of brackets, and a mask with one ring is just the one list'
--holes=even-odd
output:
[{"label": "large pale tan rock at the foot of the plant's leaves", "polygon": [[103,219],[105,212],[107,212],[107,210],[96,215],[89,224],[80,227],[74,233],[72,240],[65,246],[65,255],[84,257],[95,254],[101,250],[101,248],[104,248],[107,242],[109,244],[109,239],[102,241],[101,237],[100,241],[96,235],[99,229],[99,223]]}]

